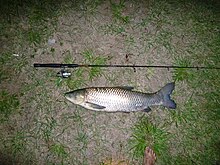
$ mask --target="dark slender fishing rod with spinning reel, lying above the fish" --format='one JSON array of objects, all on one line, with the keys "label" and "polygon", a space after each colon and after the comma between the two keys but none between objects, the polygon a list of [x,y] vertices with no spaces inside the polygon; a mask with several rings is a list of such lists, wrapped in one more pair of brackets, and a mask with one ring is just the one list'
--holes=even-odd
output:
[{"label": "dark slender fishing rod with spinning reel, lying above the fish", "polygon": [[61,63],[34,63],[35,68],[44,67],[44,68],[61,68],[61,71],[57,73],[57,76],[62,78],[68,78],[71,76],[71,72],[67,71],[66,68],[78,68],[78,67],[86,67],[86,68],[161,68],[161,69],[212,69],[212,70],[220,70],[220,67],[205,67],[205,66],[176,66],[176,65],[91,65],[91,64],[61,64]]}]

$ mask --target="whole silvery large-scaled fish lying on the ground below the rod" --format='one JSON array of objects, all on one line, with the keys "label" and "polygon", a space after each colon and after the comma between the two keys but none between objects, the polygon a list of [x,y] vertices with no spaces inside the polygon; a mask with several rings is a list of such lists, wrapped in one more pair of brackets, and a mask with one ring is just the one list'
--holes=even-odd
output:
[{"label": "whole silvery large-scaled fish lying on the ground below the rod", "polygon": [[151,111],[152,106],[164,106],[176,109],[171,99],[175,83],[171,82],[155,93],[134,91],[133,87],[88,87],[64,94],[73,104],[93,111],[103,112],[135,112]]}]

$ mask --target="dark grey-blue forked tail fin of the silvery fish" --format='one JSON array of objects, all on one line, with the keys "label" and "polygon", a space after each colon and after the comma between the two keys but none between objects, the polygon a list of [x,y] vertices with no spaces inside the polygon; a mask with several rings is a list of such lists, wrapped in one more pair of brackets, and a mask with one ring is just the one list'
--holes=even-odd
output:
[{"label": "dark grey-blue forked tail fin of the silvery fish", "polygon": [[168,83],[158,92],[159,95],[163,98],[163,106],[171,109],[176,109],[176,103],[170,98],[173,90],[175,88],[174,82]]}]

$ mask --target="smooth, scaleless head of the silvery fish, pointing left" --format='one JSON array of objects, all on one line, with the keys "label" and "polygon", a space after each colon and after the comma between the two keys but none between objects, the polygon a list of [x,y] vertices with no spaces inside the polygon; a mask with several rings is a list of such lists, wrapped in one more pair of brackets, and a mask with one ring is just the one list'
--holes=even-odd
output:
[{"label": "smooth, scaleless head of the silvery fish, pointing left", "polygon": [[75,90],[64,94],[67,100],[74,104],[82,104],[85,100],[85,90]]}]

